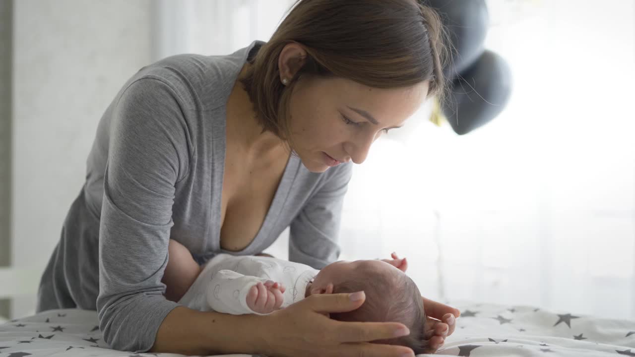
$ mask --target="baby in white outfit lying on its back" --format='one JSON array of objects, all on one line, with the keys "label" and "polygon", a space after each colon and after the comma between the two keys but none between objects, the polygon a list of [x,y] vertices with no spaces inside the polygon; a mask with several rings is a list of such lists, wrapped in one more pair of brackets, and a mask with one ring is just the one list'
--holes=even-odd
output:
[{"label": "baby in white outfit lying on its back", "polygon": [[[321,270],[271,256],[219,254],[199,267],[187,248],[170,240],[169,260],[163,283],[166,297],[190,309],[229,314],[269,314],[321,293],[352,293],[364,290],[364,304],[348,313],[330,314],[340,321],[394,321],[406,325],[410,335],[382,344],[410,347],[426,353],[427,323],[417,285],[404,273],[406,259],[340,260]],[[193,281],[190,286],[183,281]],[[181,285],[181,292],[173,286]]]}]

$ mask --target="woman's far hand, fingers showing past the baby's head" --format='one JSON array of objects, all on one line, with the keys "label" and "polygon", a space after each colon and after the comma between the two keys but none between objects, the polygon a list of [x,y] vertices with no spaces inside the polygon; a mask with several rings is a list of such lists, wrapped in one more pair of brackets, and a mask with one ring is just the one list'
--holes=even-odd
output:
[{"label": "woman's far hand, fingers showing past the baby's head", "polygon": [[426,353],[434,353],[443,346],[445,338],[454,332],[456,318],[461,315],[461,312],[441,302],[425,299],[425,297],[422,299],[424,299],[425,314],[428,315],[425,324],[430,326],[425,335],[425,339],[429,340],[430,351]]}]

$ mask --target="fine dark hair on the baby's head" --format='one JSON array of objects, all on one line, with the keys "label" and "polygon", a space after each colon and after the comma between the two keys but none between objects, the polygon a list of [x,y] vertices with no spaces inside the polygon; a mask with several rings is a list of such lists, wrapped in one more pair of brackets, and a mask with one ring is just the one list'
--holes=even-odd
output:
[{"label": "fine dark hair on the baby's head", "polygon": [[331,314],[339,321],[399,322],[410,329],[410,335],[390,340],[376,340],[381,344],[410,347],[415,354],[425,353],[427,318],[421,293],[406,274],[391,276],[356,272],[347,280],[333,286],[333,293],[352,293],[364,290],[366,300],[358,309],[348,313]]}]

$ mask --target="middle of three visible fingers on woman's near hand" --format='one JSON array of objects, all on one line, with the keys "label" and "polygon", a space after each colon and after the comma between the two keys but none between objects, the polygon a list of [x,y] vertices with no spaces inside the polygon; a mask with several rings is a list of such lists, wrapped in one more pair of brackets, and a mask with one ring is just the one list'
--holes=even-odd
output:
[{"label": "middle of three visible fingers on woman's near hand", "polygon": [[333,332],[342,342],[368,342],[410,335],[410,330],[397,322],[338,323]]}]

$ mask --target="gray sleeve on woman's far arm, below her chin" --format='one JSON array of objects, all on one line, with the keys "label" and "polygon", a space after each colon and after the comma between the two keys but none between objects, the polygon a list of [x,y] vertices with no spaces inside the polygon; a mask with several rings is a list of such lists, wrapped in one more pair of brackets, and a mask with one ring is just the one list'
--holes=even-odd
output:
[{"label": "gray sleeve on woman's far arm, below her chin", "polygon": [[352,175],[352,163],[336,166],[334,173],[309,198],[291,222],[289,260],[314,269],[335,262],[340,255],[338,234],[344,195]]}]

